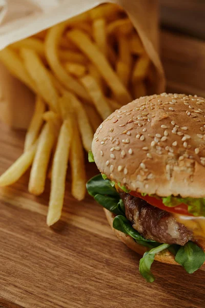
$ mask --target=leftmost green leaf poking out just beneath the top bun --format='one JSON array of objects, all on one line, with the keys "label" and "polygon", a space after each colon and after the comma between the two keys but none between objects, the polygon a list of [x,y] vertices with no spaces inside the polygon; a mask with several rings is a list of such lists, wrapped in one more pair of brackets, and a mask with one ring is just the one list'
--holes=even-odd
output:
[{"label": "leftmost green leaf poking out just beneath the top bun", "polygon": [[104,180],[101,174],[91,178],[86,184],[89,195],[95,197],[95,195],[108,195],[117,197],[119,200],[119,194],[115,187],[112,187],[109,180]]}]

